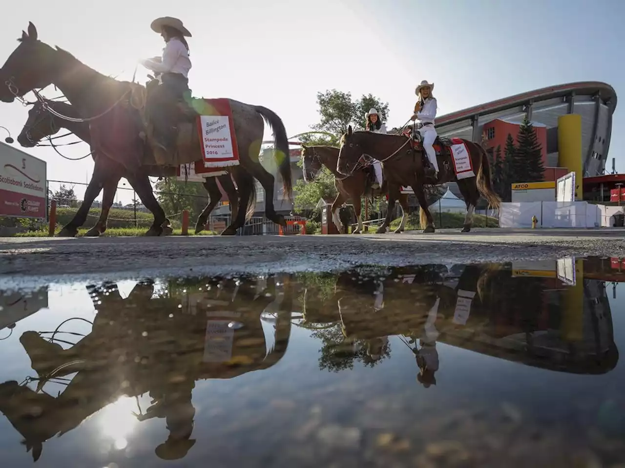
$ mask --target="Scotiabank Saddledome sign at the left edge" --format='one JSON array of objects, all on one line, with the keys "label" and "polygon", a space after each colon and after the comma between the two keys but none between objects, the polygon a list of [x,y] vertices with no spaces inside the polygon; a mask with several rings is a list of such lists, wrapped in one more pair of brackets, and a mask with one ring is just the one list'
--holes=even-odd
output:
[{"label": "Scotiabank Saddledome sign at the left edge", "polygon": [[0,216],[46,217],[46,162],[1,142]]}]

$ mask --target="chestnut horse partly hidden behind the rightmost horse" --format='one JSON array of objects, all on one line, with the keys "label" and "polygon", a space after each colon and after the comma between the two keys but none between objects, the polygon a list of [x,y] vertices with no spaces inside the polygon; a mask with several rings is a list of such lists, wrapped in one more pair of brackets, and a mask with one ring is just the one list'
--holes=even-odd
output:
[{"label": "chestnut horse partly hidden behind the rightmost horse", "polygon": [[[302,145],[302,166],[304,169],[304,181],[314,182],[314,178],[317,177],[319,170],[321,170],[321,166],[324,165],[327,167],[330,172],[334,175],[334,187],[338,195],[334,199],[332,203],[332,221],[338,228],[339,232],[341,229],[341,220],[339,218],[339,209],[341,205],[349,200],[354,204],[354,211],[356,212],[356,218],[358,219],[358,228],[353,232],[353,234],[360,234],[362,232],[362,219],[361,219],[361,197],[371,195],[371,197],[379,196],[385,193],[383,187],[380,187],[377,190],[372,190],[369,186],[368,178],[369,175],[364,170],[357,170],[351,175],[342,175],[337,172],[337,162],[339,160],[339,149],[332,146],[306,146]],[[382,183],[382,186],[389,186],[387,180]],[[404,193],[399,192],[399,187],[397,190],[393,190],[393,192],[399,193],[397,199],[399,200],[399,205],[401,205],[402,216],[401,223],[399,227],[395,230],[395,233],[404,232],[404,227],[406,227],[406,220],[409,215],[409,207],[408,207],[408,196]],[[389,192],[388,192],[389,193]],[[393,202],[394,206],[394,202]],[[391,205],[389,205],[389,213],[391,213]],[[386,228],[390,226],[390,217],[391,215],[387,215],[384,223],[377,228],[376,233],[385,233]]]}]

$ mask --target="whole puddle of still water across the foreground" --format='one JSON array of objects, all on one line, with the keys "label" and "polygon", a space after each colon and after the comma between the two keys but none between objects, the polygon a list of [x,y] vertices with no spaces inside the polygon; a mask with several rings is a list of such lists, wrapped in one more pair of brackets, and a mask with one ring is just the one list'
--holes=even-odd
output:
[{"label": "whole puddle of still water across the foreground", "polygon": [[617,466],[625,260],[0,291],[12,468]]}]

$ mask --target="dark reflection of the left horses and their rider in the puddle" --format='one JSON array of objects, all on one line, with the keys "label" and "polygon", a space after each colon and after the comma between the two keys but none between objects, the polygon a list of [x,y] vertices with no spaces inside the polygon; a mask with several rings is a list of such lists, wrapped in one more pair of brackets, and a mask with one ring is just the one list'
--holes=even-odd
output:
[{"label": "dark reflection of the left horses and their rider in the puddle", "polygon": [[[35,460],[43,442],[55,434],[71,431],[119,396],[146,392],[155,402],[139,419],[166,417],[170,427],[159,456],[184,456],[179,451],[190,447],[194,381],[231,379],[269,368],[284,356],[291,331],[288,288],[277,306],[274,344],[267,346],[261,313],[282,293],[256,297],[229,280],[201,292],[206,283],[200,278],[186,283],[186,295],[170,287],[167,297],[151,299],[154,286],[148,281],[135,286],[126,300],[114,283],[90,286],[98,313],[91,333],[74,346],[62,349],[34,331],[22,334],[39,385],[32,391],[15,381],[1,384],[0,411],[22,434]],[[184,308],[178,308],[181,302]],[[49,379],[72,373],[76,376],[58,397],[39,392]],[[35,419],[32,407],[38,408]]]}]

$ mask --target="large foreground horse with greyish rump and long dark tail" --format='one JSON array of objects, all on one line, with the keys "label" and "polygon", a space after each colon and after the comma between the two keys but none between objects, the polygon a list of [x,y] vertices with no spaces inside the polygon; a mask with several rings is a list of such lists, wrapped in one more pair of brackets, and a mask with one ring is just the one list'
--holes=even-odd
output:
[{"label": "large foreground horse with greyish rump and long dark tail", "polygon": [[[0,84],[0,100],[23,100],[22,96],[27,92],[54,84],[76,106],[81,120],[89,122],[92,147],[96,154],[106,155],[133,172],[144,165],[148,144],[142,134],[145,136],[146,127],[133,98],[135,94],[145,95],[146,87],[104,76],[68,51],[39,41],[37,28],[32,22],[29,22],[27,31],[22,31],[22,37],[18,39],[19,46],[0,69],[0,77],[4,83],[4,87]],[[38,92],[36,94],[40,97]],[[228,99],[228,102],[236,134],[239,163],[264,188],[266,217],[286,227],[286,220],[276,213],[273,206],[274,177],[262,167],[258,158],[264,132],[263,122],[267,122],[274,133],[277,150],[274,155],[282,177],[284,193],[292,200],[291,161],[284,124],[277,114],[266,107],[233,99]],[[203,101],[200,104],[202,103]],[[197,154],[197,160],[201,160],[202,142],[198,132],[189,134],[191,137],[184,147],[191,149]],[[151,139],[148,140],[151,145]],[[154,155],[155,147],[152,150],[151,154]],[[251,182],[251,178],[249,181]],[[255,192],[252,183],[237,188],[241,200],[249,200],[252,196],[250,192]],[[244,210],[238,210],[236,220],[232,220],[222,234],[236,234],[237,229],[244,225],[245,217]],[[162,229],[164,222],[164,213],[159,213],[159,218],[154,219],[156,230]]]}]

